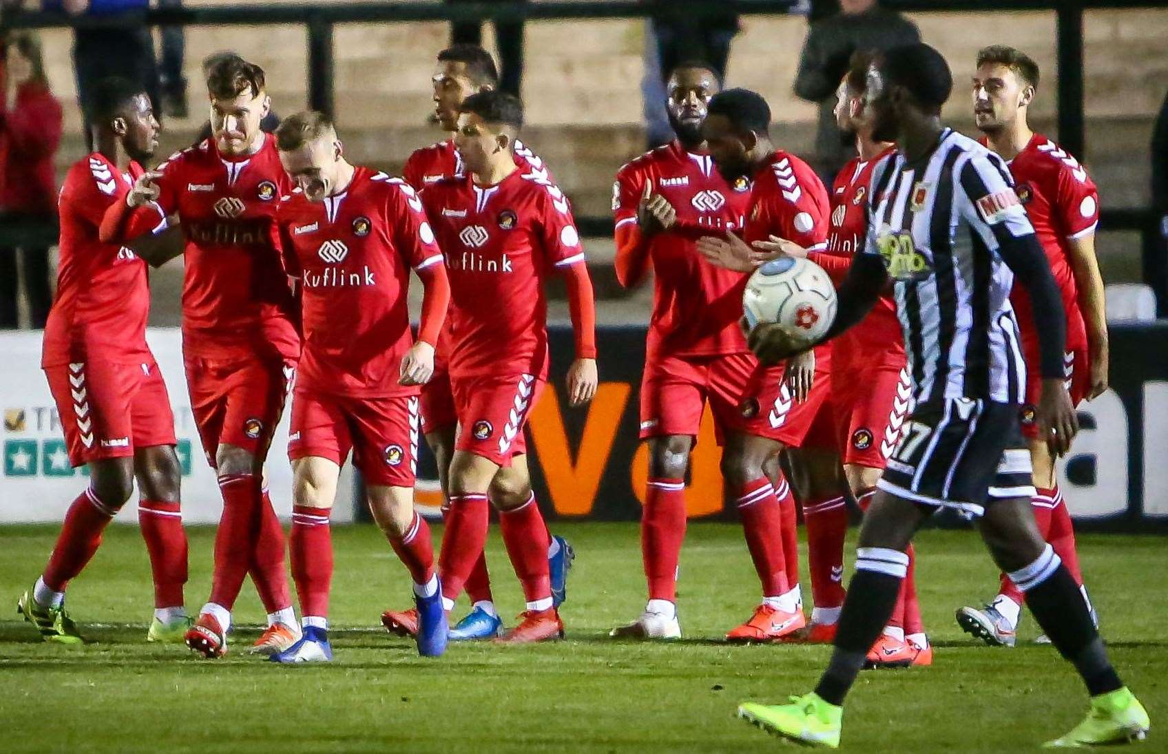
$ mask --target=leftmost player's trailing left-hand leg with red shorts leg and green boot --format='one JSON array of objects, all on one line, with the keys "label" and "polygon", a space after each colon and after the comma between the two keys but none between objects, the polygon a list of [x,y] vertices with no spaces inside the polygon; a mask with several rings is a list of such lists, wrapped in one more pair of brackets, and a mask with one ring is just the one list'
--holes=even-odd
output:
[{"label": "leftmost player's trailing left-hand leg with red shorts leg and green boot", "polygon": [[63,607],[65,586],[97,552],[102,532],[133,494],[131,405],[142,373],[137,366],[75,362],[47,366],[44,376],[69,462],[88,465],[90,483],[69,505],[49,563],[20,598],[18,610],[44,641],[79,643],[77,627]]}]

